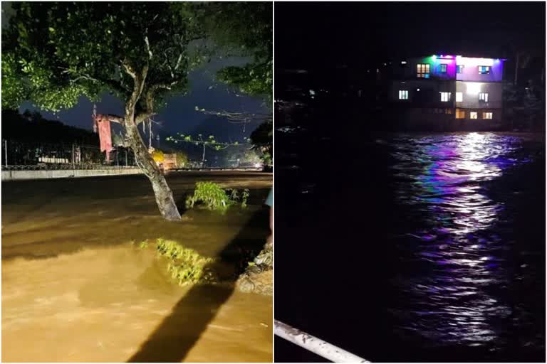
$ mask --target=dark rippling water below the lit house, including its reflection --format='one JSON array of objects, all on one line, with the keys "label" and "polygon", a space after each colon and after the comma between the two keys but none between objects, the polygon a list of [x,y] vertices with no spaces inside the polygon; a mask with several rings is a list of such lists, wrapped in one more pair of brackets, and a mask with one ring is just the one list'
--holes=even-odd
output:
[{"label": "dark rippling water below the lit house, including its reflection", "polygon": [[276,319],[373,361],[544,361],[541,139],[306,144],[276,165]]}]

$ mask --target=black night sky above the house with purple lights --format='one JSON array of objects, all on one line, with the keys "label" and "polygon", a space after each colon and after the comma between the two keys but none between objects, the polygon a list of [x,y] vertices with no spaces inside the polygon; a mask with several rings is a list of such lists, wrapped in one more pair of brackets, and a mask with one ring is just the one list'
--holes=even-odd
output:
[{"label": "black night sky above the house with purple lights", "polygon": [[545,50],[545,2],[276,2],[276,65]]}]

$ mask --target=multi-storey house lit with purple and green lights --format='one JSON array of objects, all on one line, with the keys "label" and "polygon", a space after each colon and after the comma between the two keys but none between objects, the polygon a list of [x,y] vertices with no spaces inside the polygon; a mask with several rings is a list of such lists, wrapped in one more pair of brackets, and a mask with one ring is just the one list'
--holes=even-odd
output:
[{"label": "multi-storey house lit with purple and green lights", "polygon": [[410,122],[491,126],[501,120],[503,67],[462,55],[402,60],[392,65],[390,102]]}]

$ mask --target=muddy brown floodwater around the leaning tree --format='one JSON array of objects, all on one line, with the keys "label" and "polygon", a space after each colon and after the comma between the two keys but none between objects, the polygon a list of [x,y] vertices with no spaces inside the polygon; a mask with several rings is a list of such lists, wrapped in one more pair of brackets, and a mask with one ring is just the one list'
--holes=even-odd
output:
[{"label": "muddy brown floodwater around the leaning tree", "polygon": [[[196,181],[249,188],[249,208],[160,217],[143,176],[2,183],[2,361],[267,362],[271,296],[232,285],[179,287],[153,250],[163,237],[214,257],[264,241],[269,173],[173,173],[175,200]],[[267,213],[264,215],[267,218]]]}]

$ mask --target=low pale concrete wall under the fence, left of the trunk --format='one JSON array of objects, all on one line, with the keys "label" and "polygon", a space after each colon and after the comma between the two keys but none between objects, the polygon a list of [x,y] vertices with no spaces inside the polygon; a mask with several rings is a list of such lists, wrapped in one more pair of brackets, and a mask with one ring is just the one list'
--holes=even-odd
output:
[{"label": "low pale concrete wall under the fence, left of the trunk", "polygon": [[139,168],[111,169],[61,169],[43,171],[2,171],[2,181],[19,181],[24,179],[44,178],[77,178],[97,176],[120,176],[124,174],[140,174]]}]

